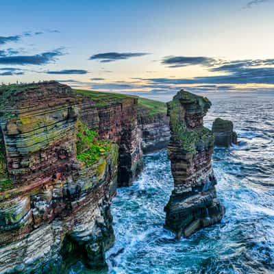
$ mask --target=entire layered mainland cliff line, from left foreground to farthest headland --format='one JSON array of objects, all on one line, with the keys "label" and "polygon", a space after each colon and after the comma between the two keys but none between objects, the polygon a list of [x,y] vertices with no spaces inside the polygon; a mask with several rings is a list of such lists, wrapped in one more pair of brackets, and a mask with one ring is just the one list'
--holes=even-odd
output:
[{"label": "entire layered mainland cliff line, from left foreground to farthest headland", "polygon": [[169,140],[164,103],[57,82],[0,96],[0,273],[103,268],[116,186],[140,173],[142,149]]}]

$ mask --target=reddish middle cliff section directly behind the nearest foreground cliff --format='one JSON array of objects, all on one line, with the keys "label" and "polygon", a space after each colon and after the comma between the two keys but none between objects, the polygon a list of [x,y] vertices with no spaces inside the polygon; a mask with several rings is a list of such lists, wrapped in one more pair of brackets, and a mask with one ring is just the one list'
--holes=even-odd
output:
[{"label": "reddish middle cliff section directly behind the nearest foreground cliff", "polygon": [[137,123],[137,97],[76,90],[79,116],[101,138],[119,145],[119,186],[131,186],[142,170],[142,132]]}]

